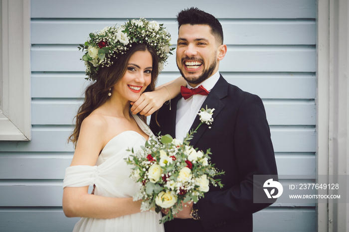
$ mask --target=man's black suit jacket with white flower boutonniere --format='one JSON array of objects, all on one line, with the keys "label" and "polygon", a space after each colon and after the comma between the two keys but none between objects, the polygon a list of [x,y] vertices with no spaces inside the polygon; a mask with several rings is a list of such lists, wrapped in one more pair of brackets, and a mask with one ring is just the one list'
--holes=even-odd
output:
[{"label": "man's black suit jacket with white flower boutonniere", "polygon": [[[151,118],[155,134],[175,137],[176,105],[181,96],[164,105]],[[211,162],[219,170],[224,187],[210,186],[195,205],[201,220],[175,219],[165,223],[166,232],[252,231],[252,213],[269,204],[253,203],[253,175],[277,175],[270,129],[261,99],[230,85],[220,76],[202,108],[214,108],[211,128],[202,124],[190,144],[199,150],[211,149]],[[191,129],[199,124],[196,116]],[[262,183],[263,184],[263,183]]]}]

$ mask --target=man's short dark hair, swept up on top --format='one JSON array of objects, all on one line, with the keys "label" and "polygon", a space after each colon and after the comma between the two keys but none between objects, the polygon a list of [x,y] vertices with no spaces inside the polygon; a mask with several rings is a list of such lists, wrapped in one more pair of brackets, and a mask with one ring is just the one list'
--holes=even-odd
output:
[{"label": "man's short dark hair, swept up on top", "polygon": [[219,44],[223,44],[222,25],[212,14],[206,13],[196,7],[187,8],[177,14],[178,30],[182,24],[205,24],[211,27],[211,33]]}]

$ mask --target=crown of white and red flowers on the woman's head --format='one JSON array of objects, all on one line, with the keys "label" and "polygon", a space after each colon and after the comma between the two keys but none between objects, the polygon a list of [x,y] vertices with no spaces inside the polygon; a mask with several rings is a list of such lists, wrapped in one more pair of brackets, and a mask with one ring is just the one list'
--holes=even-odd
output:
[{"label": "crown of white and red flowers on the woman's head", "polygon": [[165,62],[172,54],[170,48],[170,33],[157,21],[148,21],[145,18],[132,19],[116,27],[107,26],[102,30],[90,33],[90,38],[85,44],[79,44],[79,50],[86,50],[82,60],[86,66],[86,80],[95,81],[101,67],[109,67],[119,55],[126,53],[135,43],[144,43],[153,47],[159,57],[159,72],[164,68]]}]

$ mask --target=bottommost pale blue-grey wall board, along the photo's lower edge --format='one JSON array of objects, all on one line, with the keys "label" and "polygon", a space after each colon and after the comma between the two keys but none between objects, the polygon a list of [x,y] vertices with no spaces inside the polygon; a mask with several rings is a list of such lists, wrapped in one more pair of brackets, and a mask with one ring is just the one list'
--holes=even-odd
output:
[{"label": "bottommost pale blue-grey wall board, along the photo's lower edge", "polygon": [[[38,223],[40,219],[41,223]],[[293,228],[297,232],[316,231],[316,212],[314,208],[267,208],[253,215],[255,232],[286,232]],[[272,221],[271,221],[272,220]],[[77,218],[66,218],[63,211],[56,208],[15,210],[0,208],[1,230],[22,231],[72,231]],[[45,222],[45,223],[42,223]],[[62,223],[64,222],[64,223]],[[268,223],[266,223],[268,222]]]}]

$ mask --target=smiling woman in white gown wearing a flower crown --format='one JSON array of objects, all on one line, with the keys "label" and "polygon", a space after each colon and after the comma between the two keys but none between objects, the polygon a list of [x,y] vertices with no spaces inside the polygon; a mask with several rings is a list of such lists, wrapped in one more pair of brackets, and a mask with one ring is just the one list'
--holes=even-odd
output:
[{"label": "smiling woman in white gown wearing a flower crown", "polygon": [[[139,187],[129,178],[124,158],[130,155],[128,148],[139,148],[153,135],[145,118],[130,112],[130,103],[155,90],[159,62],[162,66],[169,55],[170,35],[157,22],[139,19],[106,27],[90,38],[81,46],[93,83],[69,137],[75,152],[63,181],[64,214],[81,217],[74,231],[163,232],[161,214],[141,212],[141,202],[133,201]],[[179,93],[180,79],[157,91],[156,104]],[[152,104],[144,107],[142,115],[154,112]],[[90,185],[93,194],[88,193]]]}]

